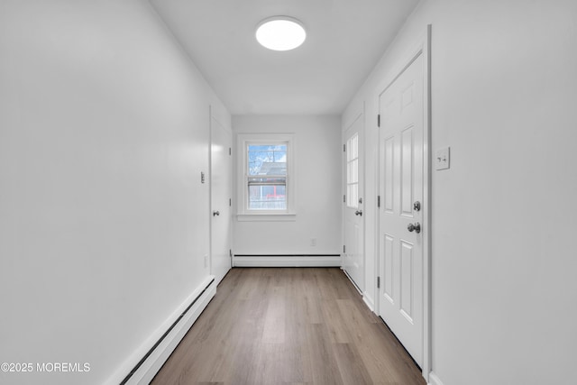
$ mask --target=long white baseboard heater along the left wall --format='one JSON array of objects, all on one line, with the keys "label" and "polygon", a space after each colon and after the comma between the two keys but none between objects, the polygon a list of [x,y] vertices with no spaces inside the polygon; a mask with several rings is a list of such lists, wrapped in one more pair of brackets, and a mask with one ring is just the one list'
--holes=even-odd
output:
[{"label": "long white baseboard heater along the left wall", "polygon": [[[133,368],[142,360],[151,347],[156,344],[162,335],[169,329],[170,325],[179,318],[180,315],[187,309],[187,307],[196,299],[197,302],[188,309],[186,315],[184,315],[177,325],[170,331],[164,340],[154,349],[151,355],[147,358],[145,362],[142,363],[141,367],[133,373],[131,378],[126,382],[126,384],[148,384],[154,378],[156,373],[160,371],[160,368],[169,358],[170,353],[174,351],[182,338],[187,334],[188,329],[195,323],[198,316],[206,308],[210,300],[215,297],[216,294],[216,282],[214,276],[209,276],[203,283],[188,296],[187,300],[184,301],[177,309],[174,311],[172,316],[170,316],[167,321],[161,325],[156,332],[151,335],[147,341],[142,344],[121,366],[114,372],[113,376],[106,380],[106,384],[113,385],[118,384],[124,377],[133,370]],[[209,284],[209,282],[211,282]],[[204,293],[202,291],[205,290]],[[200,297],[198,297],[202,293]]]}]

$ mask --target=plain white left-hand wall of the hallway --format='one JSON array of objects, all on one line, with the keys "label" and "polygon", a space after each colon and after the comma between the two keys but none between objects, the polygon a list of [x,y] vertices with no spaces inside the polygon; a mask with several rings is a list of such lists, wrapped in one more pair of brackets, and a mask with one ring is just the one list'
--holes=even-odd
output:
[{"label": "plain white left-hand wall of the hallway", "polygon": [[0,362],[90,364],[0,382],[100,384],[208,277],[219,102],[140,0],[2,1],[0,58]]}]

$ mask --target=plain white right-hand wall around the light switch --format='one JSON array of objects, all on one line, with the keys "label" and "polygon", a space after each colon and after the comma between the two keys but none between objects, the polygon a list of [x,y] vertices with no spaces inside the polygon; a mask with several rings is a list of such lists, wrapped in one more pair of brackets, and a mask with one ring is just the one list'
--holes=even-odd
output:
[{"label": "plain white right-hand wall around the light switch", "polygon": [[427,23],[432,149],[452,151],[432,175],[433,371],[444,385],[573,383],[577,3],[422,2],[345,112],[366,100],[369,146],[378,85]]}]

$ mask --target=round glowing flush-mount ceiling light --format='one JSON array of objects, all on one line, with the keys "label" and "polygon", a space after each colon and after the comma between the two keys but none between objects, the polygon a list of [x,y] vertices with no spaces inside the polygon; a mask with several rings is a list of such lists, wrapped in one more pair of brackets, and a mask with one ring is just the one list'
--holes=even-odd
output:
[{"label": "round glowing flush-mount ceiling light", "polygon": [[270,17],[256,28],[256,40],[269,50],[294,50],[305,39],[303,24],[289,16]]}]

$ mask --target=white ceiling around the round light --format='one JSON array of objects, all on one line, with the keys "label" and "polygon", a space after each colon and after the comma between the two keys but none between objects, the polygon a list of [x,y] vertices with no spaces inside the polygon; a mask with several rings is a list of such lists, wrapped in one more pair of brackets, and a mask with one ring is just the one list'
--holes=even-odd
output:
[{"label": "white ceiling around the round light", "polygon": [[[418,0],[151,0],[233,115],[339,115]],[[261,20],[307,28],[296,50],[255,40]]]}]

